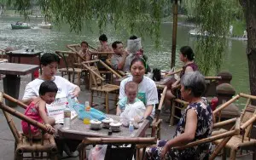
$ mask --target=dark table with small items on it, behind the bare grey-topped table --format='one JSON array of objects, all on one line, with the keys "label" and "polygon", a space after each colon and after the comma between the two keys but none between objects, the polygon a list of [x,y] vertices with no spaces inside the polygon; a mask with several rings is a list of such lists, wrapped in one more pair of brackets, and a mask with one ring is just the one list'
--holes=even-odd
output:
[{"label": "dark table with small items on it, behind the bare grey-topped table", "polygon": [[[7,52],[6,54],[9,55],[9,62],[10,63],[15,63],[15,57],[18,58],[18,63],[20,63],[20,58],[21,57],[31,57],[31,58],[33,58],[33,57],[37,57],[37,56],[38,56],[38,60],[39,60],[39,63],[40,63],[41,53],[43,53],[43,51],[34,50],[32,52],[32,49],[28,49],[28,51],[26,51],[26,49],[19,49],[19,50],[13,50],[13,51]],[[13,60],[13,58],[14,58],[14,60]],[[32,61],[32,63],[33,63],[33,61]],[[40,64],[38,64],[38,65],[40,67],[40,73],[42,74],[41,66],[40,66]]]}]

